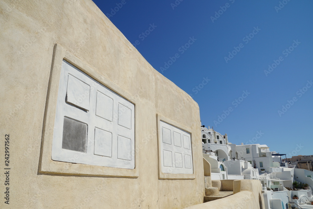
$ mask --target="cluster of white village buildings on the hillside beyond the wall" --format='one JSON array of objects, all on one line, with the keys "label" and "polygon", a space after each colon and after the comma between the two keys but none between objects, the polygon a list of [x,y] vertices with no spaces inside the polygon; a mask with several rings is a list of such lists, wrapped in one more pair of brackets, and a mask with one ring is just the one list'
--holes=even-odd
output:
[{"label": "cluster of white village buildings on the hillside beyond the wall", "polygon": [[[265,144],[228,142],[213,128],[201,127],[203,157],[211,164],[212,180],[257,179],[261,181],[266,209],[313,208],[313,172],[288,168],[275,151]],[[296,189],[296,185],[305,185]],[[294,197],[296,196],[296,197]]]}]

